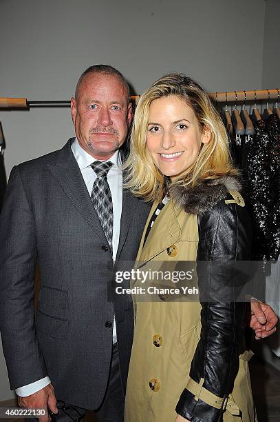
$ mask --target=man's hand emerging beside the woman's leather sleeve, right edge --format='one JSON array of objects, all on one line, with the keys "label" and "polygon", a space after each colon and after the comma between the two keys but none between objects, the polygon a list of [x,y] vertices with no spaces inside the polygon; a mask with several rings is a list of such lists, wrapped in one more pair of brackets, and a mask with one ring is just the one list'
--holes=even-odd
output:
[{"label": "man's hand emerging beside the woman's leather sleeve, right edge", "polygon": [[271,336],[276,331],[278,322],[274,310],[266,303],[251,300],[250,328],[255,331],[255,339],[260,340]]}]

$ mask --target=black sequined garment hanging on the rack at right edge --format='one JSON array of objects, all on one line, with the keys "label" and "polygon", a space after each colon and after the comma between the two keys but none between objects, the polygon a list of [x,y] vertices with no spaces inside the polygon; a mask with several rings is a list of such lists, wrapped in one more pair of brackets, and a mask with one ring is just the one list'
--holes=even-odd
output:
[{"label": "black sequined garment hanging on the rack at right edge", "polygon": [[280,253],[280,122],[271,114],[255,123],[242,157],[246,202],[253,225],[252,259],[277,260]]}]

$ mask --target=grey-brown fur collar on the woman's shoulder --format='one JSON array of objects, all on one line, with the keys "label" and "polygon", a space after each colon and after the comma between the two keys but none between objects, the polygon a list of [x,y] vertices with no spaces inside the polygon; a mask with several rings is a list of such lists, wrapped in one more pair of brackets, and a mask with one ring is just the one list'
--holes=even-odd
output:
[{"label": "grey-brown fur collar on the woman's shoulder", "polygon": [[191,214],[203,214],[211,210],[217,202],[227,197],[229,190],[241,190],[241,184],[235,177],[224,176],[206,180],[191,188],[190,186],[171,185],[170,197]]}]

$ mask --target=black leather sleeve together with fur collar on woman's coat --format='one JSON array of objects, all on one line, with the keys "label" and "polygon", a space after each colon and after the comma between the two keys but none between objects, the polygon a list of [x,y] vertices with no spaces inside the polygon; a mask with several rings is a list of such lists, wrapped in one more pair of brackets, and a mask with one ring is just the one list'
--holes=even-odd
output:
[{"label": "black leather sleeve together with fur collar on woman's coat", "polygon": [[[202,331],[191,363],[190,376],[197,384],[204,379],[203,387],[224,399],[233,389],[239,354],[245,350],[246,304],[230,299],[221,301],[219,297],[221,290],[227,294],[227,286],[233,283],[233,273],[227,271],[228,263],[250,259],[252,234],[250,218],[241,199],[237,197],[236,202],[225,203],[228,190],[240,190],[239,183],[230,177],[204,181],[195,188],[172,186],[169,191],[171,199],[186,212],[197,214],[197,264],[207,261],[208,265],[206,271],[205,265],[197,266]],[[213,263],[222,264],[221,269],[218,271],[219,266],[214,268]],[[237,290],[241,288],[241,285],[234,286]],[[208,301],[201,301],[201,292],[206,292]],[[185,389],[176,412],[190,421],[217,422],[222,421],[223,410],[201,399],[195,400],[195,396]]]}]

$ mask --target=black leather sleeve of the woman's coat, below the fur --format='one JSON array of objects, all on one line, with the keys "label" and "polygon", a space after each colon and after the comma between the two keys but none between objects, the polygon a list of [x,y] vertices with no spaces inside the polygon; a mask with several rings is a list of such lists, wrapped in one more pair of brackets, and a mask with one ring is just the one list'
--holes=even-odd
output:
[{"label": "black leather sleeve of the woman's coat, below the fur", "polygon": [[[245,303],[233,299],[237,293],[235,290],[240,290],[244,280],[240,282],[238,274],[233,276],[230,262],[250,259],[250,218],[245,208],[222,200],[197,219],[202,331],[190,377],[208,390],[206,393],[226,399],[233,390],[239,354],[243,352],[245,312]],[[203,265],[199,261],[204,261]],[[220,408],[209,405],[200,399],[199,394],[192,394],[188,385],[180,396],[176,411],[193,422],[223,420],[222,405]]]}]

